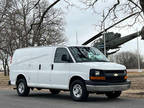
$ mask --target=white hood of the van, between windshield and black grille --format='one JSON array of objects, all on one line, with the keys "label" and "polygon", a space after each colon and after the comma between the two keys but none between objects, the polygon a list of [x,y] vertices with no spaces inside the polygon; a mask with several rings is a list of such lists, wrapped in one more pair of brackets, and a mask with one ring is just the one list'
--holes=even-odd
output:
[{"label": "white hood of the van, between windshield and black grille", "polygon": [[124,65],[120,65],[112,62],[84,62],[80,63],[90,69],[99,69],[99,70],[126,70]]}]

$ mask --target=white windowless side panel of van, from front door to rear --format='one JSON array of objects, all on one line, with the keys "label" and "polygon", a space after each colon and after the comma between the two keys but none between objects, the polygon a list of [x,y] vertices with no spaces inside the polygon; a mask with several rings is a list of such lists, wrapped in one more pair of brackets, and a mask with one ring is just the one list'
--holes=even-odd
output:
[{"label": "white windowless side panel of van, from front door to rear", "polygon": [[10,66],[11,83],[15,85],[19,74],[23,74],[26,77],[28,86],[39,86],[39,84],[49,83],[53,51],[53,47],[16,50]]}]

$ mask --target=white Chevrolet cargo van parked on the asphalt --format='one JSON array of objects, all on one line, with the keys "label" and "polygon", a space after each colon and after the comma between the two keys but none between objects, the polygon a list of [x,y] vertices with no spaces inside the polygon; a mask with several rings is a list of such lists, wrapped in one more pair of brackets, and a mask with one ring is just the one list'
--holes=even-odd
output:
[{"label": "white Chevrolet cargo van parked on the asphalt", "polygon": [[111,63],[98,49],[87,46],[51,46],[15,51],[10,84],[19,96],[30,89],[49,89],[52,94],[70,91],[73,100],[86,100],[89,93],[117,98],[130,88],[126,67]]}]

